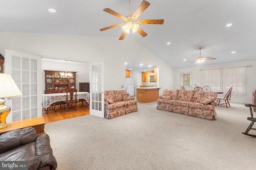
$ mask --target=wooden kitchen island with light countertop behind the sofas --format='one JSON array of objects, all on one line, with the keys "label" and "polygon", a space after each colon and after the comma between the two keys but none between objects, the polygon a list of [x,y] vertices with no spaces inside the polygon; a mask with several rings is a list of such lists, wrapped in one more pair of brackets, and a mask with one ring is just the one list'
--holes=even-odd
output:
[{"label": "wooden kitchen island with light countertop behind the sofas", "polygon": [[159,87],[142,87],[136,88],[138,102],[153,102],[159,97]]}]

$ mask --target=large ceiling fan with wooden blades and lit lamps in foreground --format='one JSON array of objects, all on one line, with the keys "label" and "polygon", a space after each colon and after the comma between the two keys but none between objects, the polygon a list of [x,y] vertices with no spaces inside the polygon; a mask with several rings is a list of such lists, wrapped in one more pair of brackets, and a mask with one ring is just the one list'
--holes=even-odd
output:
[{"label": "large ceiling fan with wooden blades and lit lamps in foreground", "polygon": [[[130,1],[130,3],[131,3],[131,1]],[[163,24],[164,23],[164,20],[162,20],[162,19],[158,19],[158,20],[137,20],[138,17],[140,16],[140,14],[142,14],[142,12],[144,12],[144,10],[146,10],[148,8],[148,6],[150,6],[150,3],[143,0],[133,14],[131,14],[131,11],[130,11],[130,13],[126,14],[125,16],[122,16],[122,15],[118,14],[117,12],[114,12],[113,10],[111,10],[109,8],[105,8],[103,11],[108,12],[109,14],[112,14],[113,16],[116,16],[116,17],[120,18],[124,22],[123,23],[118,23],[116,25],[111,25],[109,27],[102,28],[102,29],[100,29],[100,31],[105,31],[107,29],[118,27],[118,26],[122,25],[123,32],[122,32],[119,40],[123,40],[125,35],[130,33],[130,29],[132,29],[132,33],[135,33],[135,32],[138,31],[138,33],[142,37],[146,37],[148,34],[140,28],[139,24]]]}]

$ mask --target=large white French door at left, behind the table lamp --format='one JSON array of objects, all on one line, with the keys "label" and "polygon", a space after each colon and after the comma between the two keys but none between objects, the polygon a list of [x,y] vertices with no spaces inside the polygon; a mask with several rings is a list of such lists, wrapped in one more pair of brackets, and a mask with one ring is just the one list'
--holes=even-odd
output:
[{"label": "large white French door at left, behind the table lamp", "polygon": [[42,58],[5,50],[4,72],[12,76],[22,96],[6,100],[11,111],[6,122],[42,116]]}]

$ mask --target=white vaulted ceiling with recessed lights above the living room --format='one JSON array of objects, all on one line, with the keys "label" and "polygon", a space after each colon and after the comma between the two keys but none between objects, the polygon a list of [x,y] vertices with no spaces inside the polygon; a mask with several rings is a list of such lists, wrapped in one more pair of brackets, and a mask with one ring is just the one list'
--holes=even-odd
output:
[{"label": "white vaulted ceiling with recessed lights above the living room", "polygon": [[[255,0],[147,1],[150,6],[138,19],[164,19],[164,24],[141,24],[146,37],[134,33],[120,41],[121,27],[99,30],[122,23],[104,8],[124,16],[142,0],[130,0],[130,9],[129,0],[5,0],[0,7],[0,31],[107,36],[119,43],[131,38],[173,68],[197,66],[183,60],[200,57],[199,47],[203,57],[216,58],[205,61],[206,65],[256,60]],[[228,23],[232,26],[226,27]]]}]

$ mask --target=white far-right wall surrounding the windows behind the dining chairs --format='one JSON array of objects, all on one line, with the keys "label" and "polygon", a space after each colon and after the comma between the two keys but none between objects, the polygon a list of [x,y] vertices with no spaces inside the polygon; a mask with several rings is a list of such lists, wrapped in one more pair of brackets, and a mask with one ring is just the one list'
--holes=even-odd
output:
[{"label": "white far-right wall surrounding the windows behind the dining chairs", "polygon": [[[210,61],[205,61],[210,62]],[[202,86],[201,71],[204,69],[213,68],[228,68],[228,67],[239,67],[239,66],[250,66],[246,67],[246,94],[239,94],[232,92],[231,102],[241,102],[241,103],[252,103],[252,89],[256,88],[256,78],[254,78],[254,73],[256,72],[256,60],[255,61],[244,61],[237,63],[226,63],[226,64],[214,64],[214,65],[201,65],[187,68],[176,68],[174,69],[174,89],[181,89],[180,84],[180,73],[182,72],[192,72],[192,89],[194,89],[194,84],[197,86]],[[218,96],[224,96],[218,94]]]}]

